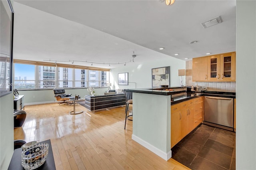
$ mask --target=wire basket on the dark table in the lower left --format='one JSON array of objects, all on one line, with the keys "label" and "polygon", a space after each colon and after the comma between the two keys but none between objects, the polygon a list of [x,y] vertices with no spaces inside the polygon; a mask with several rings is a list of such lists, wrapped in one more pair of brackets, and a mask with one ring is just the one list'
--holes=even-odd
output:
[{"label": "wire basket on the dark table in the lower left", "polygon": [[48,143],[38,143],[25,148],[21,153],[21,165],[25,170],[38,168],[46,161],[48,148]]}]

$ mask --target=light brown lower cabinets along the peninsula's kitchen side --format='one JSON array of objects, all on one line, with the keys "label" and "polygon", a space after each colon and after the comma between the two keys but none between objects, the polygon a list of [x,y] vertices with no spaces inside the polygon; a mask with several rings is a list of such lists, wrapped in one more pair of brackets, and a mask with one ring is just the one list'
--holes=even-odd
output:
[{"label": "light brown lower cabinets along the peninsula's kitchen side", "polygon": [[202,101],[197,97],[171,106],[171,148],[202,123]]}]

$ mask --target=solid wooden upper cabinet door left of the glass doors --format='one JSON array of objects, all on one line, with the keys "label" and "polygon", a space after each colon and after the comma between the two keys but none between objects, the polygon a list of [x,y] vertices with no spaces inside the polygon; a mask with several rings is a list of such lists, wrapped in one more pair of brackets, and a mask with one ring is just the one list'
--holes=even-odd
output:
[{"label": "solid wooden upper cabinet door left of the glass doors", "polygon": [[193,58],[192,81],[207,81],[207,57]]}]

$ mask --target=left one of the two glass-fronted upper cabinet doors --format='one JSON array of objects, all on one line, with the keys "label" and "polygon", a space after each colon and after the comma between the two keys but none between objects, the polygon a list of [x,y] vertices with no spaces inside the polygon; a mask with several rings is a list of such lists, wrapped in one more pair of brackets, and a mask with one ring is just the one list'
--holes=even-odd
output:
[{"label": "left one of the two glass-fronted upper cabinet doors", "polygon": [[208,57],[208,80],[220,80],[220,55]]}]

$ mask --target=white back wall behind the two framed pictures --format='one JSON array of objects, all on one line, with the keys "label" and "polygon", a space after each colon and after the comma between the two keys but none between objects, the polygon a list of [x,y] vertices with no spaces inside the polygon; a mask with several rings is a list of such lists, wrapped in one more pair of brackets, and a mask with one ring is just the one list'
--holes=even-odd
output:
[{"label": "white back wall behind the two framed pictures", "polygon": [[[159,55],[164,55],[159,53]],[[180,86],[180,77],[178,76],[178,69],[185,69],[186,62],[174,57],[165,55],[166,59],[158,59],[156,61],[138,64],[136,62],[126,64],[126,66],[114,68],[110,70],[110,83],[112,89],[135,89],[152,87],[152,69],[157,67],[170,66],[170,86]],[[128,72],[128,86],[118,85],[118,73]],[[185,77],[183,78],[185,79]]]}]

